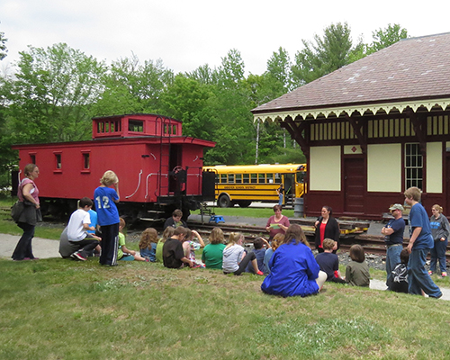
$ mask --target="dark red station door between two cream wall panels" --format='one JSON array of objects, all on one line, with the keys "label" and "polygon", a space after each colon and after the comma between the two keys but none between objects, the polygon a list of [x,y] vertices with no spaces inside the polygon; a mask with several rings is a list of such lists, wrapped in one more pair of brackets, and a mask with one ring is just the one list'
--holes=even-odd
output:
[{"label": "dark red station door between two cream wall panels", "polygon": [[344,158],[344,211],[364,213],[365,161],[363,157]]}]

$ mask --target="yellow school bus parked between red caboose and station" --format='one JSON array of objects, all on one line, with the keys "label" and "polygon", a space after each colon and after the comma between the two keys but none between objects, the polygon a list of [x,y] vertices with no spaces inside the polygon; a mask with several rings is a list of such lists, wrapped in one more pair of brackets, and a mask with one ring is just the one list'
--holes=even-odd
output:
[{"label": "yellow school bus parked between red caboose and station", "polygon": [[215,199],[221,208],[246,208],[252,202],[279,201],[277,189],[284,188],[284,205],[306,192],[306,164],[262,164],[239,166],[203,166],[215,176]]}]

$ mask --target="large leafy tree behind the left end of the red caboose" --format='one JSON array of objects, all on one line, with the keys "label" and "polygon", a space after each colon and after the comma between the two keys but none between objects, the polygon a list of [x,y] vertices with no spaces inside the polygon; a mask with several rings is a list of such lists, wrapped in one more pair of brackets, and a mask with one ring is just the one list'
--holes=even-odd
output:
[{"label": "large leafy tree behind the left end of the red caboose", "polygon": [[13,142],[89,139],[90,107],[103,91],[102,62],[64,43],[20,52],[6,114]]}]

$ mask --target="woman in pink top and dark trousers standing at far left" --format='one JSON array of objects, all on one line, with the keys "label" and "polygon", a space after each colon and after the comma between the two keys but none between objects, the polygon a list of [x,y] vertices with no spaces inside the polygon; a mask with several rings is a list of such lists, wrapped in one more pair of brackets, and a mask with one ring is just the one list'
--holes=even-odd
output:
[{"label": "woman in pink top and dark trousers standing at far left", "polygon": [[17,192],[19,201],[23,202],[23,212],[17,221],[19,228],[23,229],[23,235],[14,249],[13,260],[16,261],[36,259],[32,255],[31,239],[34,237],[36,222],[41,220],[39,190],[34,184],[34,179],[39,176],[39,168],[34,164],[28,164],[23,173],[25,177]]}]

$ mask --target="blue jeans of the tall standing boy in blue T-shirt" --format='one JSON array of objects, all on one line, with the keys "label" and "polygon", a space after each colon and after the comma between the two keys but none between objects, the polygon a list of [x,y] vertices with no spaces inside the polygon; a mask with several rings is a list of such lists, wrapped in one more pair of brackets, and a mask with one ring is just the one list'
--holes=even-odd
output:
[{"label": "blue jeans of the tall standing boy in blue T-shirt", "polygon": [[410,253],[410,261],[408,262],[408,293],[421,295],[421,291],[427,293],[431,297],[439,297],[442,295],[427,270],[425,270],[425,262],[429,248],[412,249]]}]

